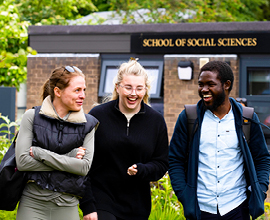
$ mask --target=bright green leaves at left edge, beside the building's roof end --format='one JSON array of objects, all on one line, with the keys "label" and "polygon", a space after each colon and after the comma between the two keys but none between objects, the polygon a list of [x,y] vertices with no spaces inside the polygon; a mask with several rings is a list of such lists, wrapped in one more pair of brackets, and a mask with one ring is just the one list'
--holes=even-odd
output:
[{"label": "bright green leaves at left edge, beside the building's roof end", "polygon": [[27,46],[29,24],[20,20],[11,1],[0,5],[0,85],[19,90],[26,80],[27,55],[36,53]]}]

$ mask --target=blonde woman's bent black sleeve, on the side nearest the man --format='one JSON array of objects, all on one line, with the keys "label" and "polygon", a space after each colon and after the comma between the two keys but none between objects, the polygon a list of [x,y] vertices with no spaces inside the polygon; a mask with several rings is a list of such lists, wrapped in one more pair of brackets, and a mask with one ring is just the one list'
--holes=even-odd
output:
[{"label": "blonde woman's bent black sleeve, on the side nearest the man", "polygon": [[151,160],[144,164],[137,163],[138,173],[136,176],[144,181],[157,181],[168,170],[168,132],[163,118],[156,143]]}]

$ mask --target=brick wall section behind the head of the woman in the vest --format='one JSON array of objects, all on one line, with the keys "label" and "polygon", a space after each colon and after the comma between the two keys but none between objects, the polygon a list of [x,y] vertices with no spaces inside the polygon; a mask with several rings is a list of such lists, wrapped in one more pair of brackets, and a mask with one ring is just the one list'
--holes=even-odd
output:
[{"label": "brick wall section behind the head of the woman in the vest", "polygon": [[86,99],[83,109],[88,113],[98,101],[100,58],[97,57],[29,57],[27,61],[27,109],[40,105],[41,87],[52,70],[61,66],[77,66],[86,77]]}]

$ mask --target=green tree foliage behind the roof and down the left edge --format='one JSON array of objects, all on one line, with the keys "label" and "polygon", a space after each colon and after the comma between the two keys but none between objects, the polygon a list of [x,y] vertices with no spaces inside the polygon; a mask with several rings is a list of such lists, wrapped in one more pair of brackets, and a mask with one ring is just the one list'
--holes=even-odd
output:
[{"label": "green tree foliage behind the roof and down the left edge", "polygon": [[[0,86],[26,80],[29,25],[65,25],[95,11],[123,24],[269,20],[270,0],[0,0]],[[104,19],[95,24],[102,24]],[[90,21],[91,23],[91,21]],[[89,23],[88,23],[89,24]],[[92,23],[93,24],[93,23]]]}]

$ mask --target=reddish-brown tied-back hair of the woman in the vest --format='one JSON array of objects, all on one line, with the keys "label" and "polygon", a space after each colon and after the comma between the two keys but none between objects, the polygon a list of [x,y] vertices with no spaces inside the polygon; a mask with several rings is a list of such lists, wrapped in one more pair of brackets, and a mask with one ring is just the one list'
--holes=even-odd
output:
[{"label": "reddish-brown tied-back hair of the woman in the vest", "polygon": [[44,100],[48,95],[50,95],[53,101],[54,88],[58,87],[61,90],[67,88],[71,78],[74,76],[82,76],[85,79],[82,72],[77,71],[76,68],[73,69],[74,72],[69,72],[64,66],[54,69],[49,79],[47,79],[42,86],[41,99]]}]

